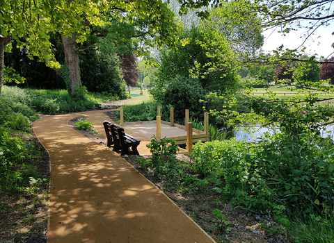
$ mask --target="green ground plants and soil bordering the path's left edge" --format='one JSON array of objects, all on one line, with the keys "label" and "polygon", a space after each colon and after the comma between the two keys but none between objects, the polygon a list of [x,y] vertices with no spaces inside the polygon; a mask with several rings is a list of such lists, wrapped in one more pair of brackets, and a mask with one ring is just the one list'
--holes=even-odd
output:
[{"label": "green ground plants and soil bordering the path's left edge", "polygon": [[10,91],[0,97],[0,241],[46,242],[49,156],[31,133],[28,96]]}]

